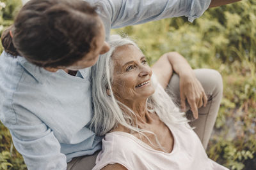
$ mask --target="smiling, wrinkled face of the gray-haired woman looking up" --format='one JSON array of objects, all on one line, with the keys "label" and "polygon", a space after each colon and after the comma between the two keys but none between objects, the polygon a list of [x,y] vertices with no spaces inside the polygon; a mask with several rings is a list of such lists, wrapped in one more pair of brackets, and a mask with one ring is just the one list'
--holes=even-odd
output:
[{"label": "smiling, wrinkled face of the gray-haired woman looking up", "polygon": [[118,46],[112,59],[115,66],[112,89],[118,101],[134,103],[154,93],[150,81],[152,69],[140,49],[134,45]]}]

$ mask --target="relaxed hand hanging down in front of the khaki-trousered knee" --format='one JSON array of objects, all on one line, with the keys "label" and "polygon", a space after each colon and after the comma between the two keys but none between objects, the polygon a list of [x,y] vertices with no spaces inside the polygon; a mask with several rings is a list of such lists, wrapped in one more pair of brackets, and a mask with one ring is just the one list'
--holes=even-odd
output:
[{"label": "relaxed hand hanging down in front of the khaki-trousered knee", "polygon": [[[189,66],[190,67],[190,66]],[[189,68],[188,68],[189,69]],[[207,104],[207,96],[201,83],[197,80],[193,70],[180,73],[180,106],[186,110],[186,100],[189,103],[193,117],[198,118],[198,108]]]}]

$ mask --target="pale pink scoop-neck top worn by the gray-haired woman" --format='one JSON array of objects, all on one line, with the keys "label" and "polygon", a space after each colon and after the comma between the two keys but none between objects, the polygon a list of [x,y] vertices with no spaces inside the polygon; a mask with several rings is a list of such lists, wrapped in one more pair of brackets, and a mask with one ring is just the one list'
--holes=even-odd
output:
[{"label": "pale pink scoop-neck top worn by the gray-haired woman", "polygon": [[184,124],[168,127],[174,138],[171,153],[154,150],[126,132],[106,134],[93,170],[116,163],[129,170],[227,170],[207,157],[200,139],[192,129]]}]

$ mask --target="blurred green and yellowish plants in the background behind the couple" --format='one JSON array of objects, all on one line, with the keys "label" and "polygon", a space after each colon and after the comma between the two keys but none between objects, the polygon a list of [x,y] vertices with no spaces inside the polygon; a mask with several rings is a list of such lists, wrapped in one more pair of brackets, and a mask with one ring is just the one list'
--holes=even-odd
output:
[{"label": "blurred green and yellowish plants in the background behind the couple", "polygon": [[[12,24],[19,0],[0,0],[0,32]],[[163,53],[181,53],[193,68],[223,76],[223,100],[207,154],[229,169],[256,169],[256,1],[207,10],[193,24],[185,17],[115,29],[135,39],[153,64]],[[3,48],[0,47],[0,50]],[[0,124],[0,169],[26,169]]]}]

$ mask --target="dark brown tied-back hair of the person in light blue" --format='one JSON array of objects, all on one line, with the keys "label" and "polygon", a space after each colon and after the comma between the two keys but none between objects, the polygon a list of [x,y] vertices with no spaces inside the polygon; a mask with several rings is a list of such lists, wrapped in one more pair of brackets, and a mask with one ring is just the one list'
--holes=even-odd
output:
[{"label": "dark brown tied-back hair of the person in light blue", "polygon": [[100,27],[97,16],[83,0],[31,0],[3,32],[2,44],[36,66],[70,66],[92,50]]}]

